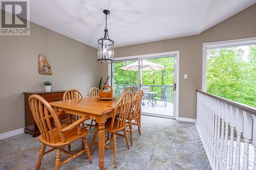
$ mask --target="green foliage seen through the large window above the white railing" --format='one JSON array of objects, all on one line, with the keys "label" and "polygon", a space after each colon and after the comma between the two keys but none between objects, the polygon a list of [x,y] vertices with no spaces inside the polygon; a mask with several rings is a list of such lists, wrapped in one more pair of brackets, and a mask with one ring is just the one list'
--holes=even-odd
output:
[{"label": "green foliage seen through the large window above the white railing", "polygon": [[256,106],[256,45],[244,51],[220,48],[207,51],[207,92],[249,106]]}]

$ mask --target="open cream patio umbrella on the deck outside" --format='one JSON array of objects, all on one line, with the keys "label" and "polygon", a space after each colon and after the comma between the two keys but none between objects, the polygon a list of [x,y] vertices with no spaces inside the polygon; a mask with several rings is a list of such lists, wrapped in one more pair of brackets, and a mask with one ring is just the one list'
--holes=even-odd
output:
[{"label": "open cream patio umbrella on the deck outside", "polygon": [[[125,65],[121,67],[123,70],[138,70],[138,62],[134,62],[132,64]],[[157,70],[164,70],[164,66],[153,63],[150,61],[142,60],[142,70],[143,71],[157,71]]]}]

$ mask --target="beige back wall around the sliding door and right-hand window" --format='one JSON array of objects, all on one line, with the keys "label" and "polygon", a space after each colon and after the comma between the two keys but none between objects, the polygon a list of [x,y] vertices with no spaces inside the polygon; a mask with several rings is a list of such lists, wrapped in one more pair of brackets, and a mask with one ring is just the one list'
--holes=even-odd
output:
[{"label": "beige back wall around the sliding door and right-hand window", "polygon": [[196,118],[196,90],[202,88],[202,44],[248,37],[256,37],[256,5],[199,35],[119,47],[115,57],[180,51],[179,117]]}]

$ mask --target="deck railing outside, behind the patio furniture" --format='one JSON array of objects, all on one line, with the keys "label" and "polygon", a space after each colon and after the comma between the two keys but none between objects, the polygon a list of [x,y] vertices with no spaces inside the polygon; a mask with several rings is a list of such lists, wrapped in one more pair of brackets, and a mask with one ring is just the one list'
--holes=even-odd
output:
[{"label": "deck railing outside, behind the patio furniture", "polygon": [[[129,87],[138,88],[138,85],[134,85],[134,84],[115,84],[114,86],[115,94],[120,94],[119,86],[122,86],[124,89]],[[150,91],[157,92],[156,94],[157,98],[161,98],[161,92],[163,87],[167,87],[166,88],[167,102],[170,102],[170,103],[174,102],[173,85],[142,85],[142,86],[149,86]]]}]

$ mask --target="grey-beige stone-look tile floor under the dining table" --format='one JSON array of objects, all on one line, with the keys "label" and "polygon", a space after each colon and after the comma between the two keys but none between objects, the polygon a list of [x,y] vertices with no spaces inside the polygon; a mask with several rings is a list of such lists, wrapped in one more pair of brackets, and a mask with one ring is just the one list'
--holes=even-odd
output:
[{"label": "grey-beige stone-look tile floor under the dining table", "polygon": [[[211,169],[196,125],[173,119],[142,116],[142,134],[134,127],[134,144],[127,150],[125,139],[117,139],[118,167],[116,169]],[[89,132],[89,144],[94,129]],[[29,134],[0,140],[0,169],[34,169],[41,143]],[[81,141],[71,144],[72,152],[81,149]],[[93,163],[86,154],[61,166],[60,169],[98,169],[98,151],[94,147]],[[61,153],[61,159],[68,156]],[[113,151],[105,150],[105,169],[115,169]],[[40,169],[54,169],[55,152],[42,159]]]}]

